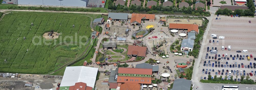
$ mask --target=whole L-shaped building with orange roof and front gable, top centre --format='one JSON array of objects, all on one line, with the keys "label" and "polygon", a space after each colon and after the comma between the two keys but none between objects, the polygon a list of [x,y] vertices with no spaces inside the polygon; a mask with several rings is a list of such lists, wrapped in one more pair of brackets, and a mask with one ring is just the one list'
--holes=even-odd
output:
[{"label": "whole L-shaped building with orange roof and front gable, top centre", "polygon": [[148,20],[151,22],[155,21],[155,14],[137,14],[137,13],[132,13],[132,18],[131,18],[131,25],[140,25],[141,20]]}]

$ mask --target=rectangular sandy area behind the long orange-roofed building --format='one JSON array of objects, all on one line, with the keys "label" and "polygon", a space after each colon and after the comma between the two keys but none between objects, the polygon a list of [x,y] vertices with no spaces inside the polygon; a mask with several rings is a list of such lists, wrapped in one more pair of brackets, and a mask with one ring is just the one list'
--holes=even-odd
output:
[{"label": "rectangular sandy area behind the long orange-roofed building", "polygon": [[[180,20],[179,22],[174,22],[175,20]],[[179,24],[194,24],[196,23],[196,25],[202,26],[202,20],[189,20],[189,22],[187,22],[188,19],[167,19],[167,23],[166,25],[169,25],[169,23],[179,23]]]}]

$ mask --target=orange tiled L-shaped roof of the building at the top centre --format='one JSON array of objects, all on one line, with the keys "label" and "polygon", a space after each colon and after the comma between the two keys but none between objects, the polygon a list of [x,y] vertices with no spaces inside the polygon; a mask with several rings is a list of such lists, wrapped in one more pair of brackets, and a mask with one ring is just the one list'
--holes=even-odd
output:
[{"label": "orange tiled L-shaped roof of the building at the top centre", "polygon": [[137,13],[132,13],[132,18],[131,18],[131,23],[134,23],[134,21],[141,23],[142,18],[145,19],[151,19],[155,20],[155,14],[137,14]]}]

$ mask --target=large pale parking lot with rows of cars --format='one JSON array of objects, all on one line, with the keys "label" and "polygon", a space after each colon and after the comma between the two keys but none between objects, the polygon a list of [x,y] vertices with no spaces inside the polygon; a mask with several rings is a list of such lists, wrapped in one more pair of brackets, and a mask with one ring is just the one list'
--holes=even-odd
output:
[{"label": "large pale parking lot with rows of cars", "polygon": [[[256,67],[255,68],[253,67],[253,63],[256,63],[256,61],[254,61],[254,57],[256,56],[256,48],[255,48],[256,19],[245,18],[245,17],[230,17],[230,16],[219,16],[218,20],[215,20],[215,18],[212,20],[210,31],[206,31],[209,33],[207,35],[206,45],[204,47],[204,54],[202,55],[202,60],[200,62],[199,72],[197,73],[197,75],[203,78],[204,77],[208,78],[209,72],[212,77],[214,77],[217,72],[217,77],[220,77],[222,74],[222,69],[224,69],[223,75],[222,75],[223,78],[225,77],[227,70],[228,70],[227,76],[229,76],[229,72],[231,72],[232,70],[233,73],[231,73],[231,75],[233,76],[233,79],[235,79],[237,76],[237,72],[234,73],[234,70],[235,71],[238,70],[238,73],[239,73],[238,78],[240,78],[240,76],[243,75],[243,70],[245,70],[245,75],[247,75],[247,73],[250,73],[251,70],[253,70],[253,73],[252,73],[253,75],[252,76],[249,75],[249,76],[251,79],[256,80],[256,76],[254,75]],[[219,18],[221,19],[219,20]],[[251,21],[251,23],[249,23],[249,21]],[[217,34],[217,38],[219,38],[219,36],[225,36],[225,39],[212,39],[211,34]],[[209,43],[209,40],[211,40],[211,43]],[[215,43],[213,43],[213,40],[215,41]],[[222,50],[222,46],[224,46],[224,50]],[[228,50],[228,46],[231,46],[230,51]],[[216,59],[215,59],[215,54],[210,54],[210,52],[207,52],[207,47],[209,47],[209,50],[212,50],[212,47],[214,48],[213,50],[215,50],[215,47],[217,48],[218,53],[217,53]],[[225,50],[225,48],[227,48],[227,50]],[[242,53],[243,50],[248,50],[248,53]],[[239,53],[236,51],[241,51],[241,52]],[[208,53],[208,56],[206,59],[207,53]],[[225,58],[223,57],[223,54]],[[238,54],[238,58],[237,58],[237,54]],[[250,54],[252,54],[253,58],[250,58],[250,61],[248,61],[246,55],[250,57]],[[232,57],[230,57],[230,55],[232,55]],[[235,58],[234,60],[232,60],[234,55],[235,55]],[[239,60],[240,55],[241,55],[241,60]],[[244,59],[243,59],[243,55],[245,56]],[[209,59],[209,56],[210,56],[210,59]],[[212,57],[214,58],[212,59]],[[229,60],[228,60],[228,57],[229,57]],[[219,58],[220,60],[218,60]],[[208,64],[209,60],[210,60],[211,66],[210,64]],[[204,66],[204,61],[206,61],[205,66]],[[217,61],[217,67],[215,66],[216,65],[215,61]],[[219,64],[218,64],[218,61],[219,61]],[[228,62],[228,64],[226,64],[226,62]],[[212,63],[214,63],[214,67],[212,67]],[[237,65],[235,65],[235,63],[237,63]],[[244,65],[243,68],[241,63],[243,63]],[[250,63],[252,63],[251,65],[252,68],[250,66]],[[231,65],[232,67],[231,68],[227,67],[227,65],[229,66]],[[240,65],[240,68],[238,68],[239,65]],[[248,67],[245,68],[245,66],[248,66],[248,65],[250,66],[250,68]],[[202,69],[205,69],[205,71],[206,69],[208,69],[207,74],[205,72],[204,74],[202,74]],[[209,69],[211,69],[211,71],[209,71]],[[213,69],[214,69],[214,72],[212,72]],[[218,70],[220,70],[220,73],[218,73]],[[242,72],[240,72],[240,70]],[[240,73],[242,74],[240,75]],[[200,77],[198,79],[200,79]]]}]

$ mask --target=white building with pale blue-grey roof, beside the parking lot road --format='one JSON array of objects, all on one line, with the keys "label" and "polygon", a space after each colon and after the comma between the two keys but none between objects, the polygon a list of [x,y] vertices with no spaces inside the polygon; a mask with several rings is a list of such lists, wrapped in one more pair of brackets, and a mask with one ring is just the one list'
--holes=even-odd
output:
[{"label": "white building with pale blue-grey roof, beside the parking lot road", "polygon": [[194,48],[194,40],[193,39],[183,39],[181,43],[180,50],[181,51],[193,51]]}]

